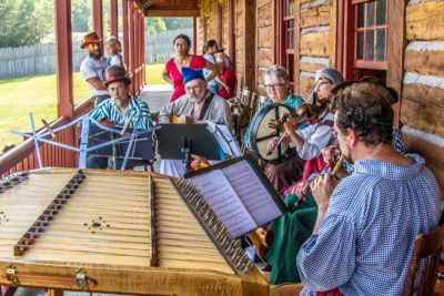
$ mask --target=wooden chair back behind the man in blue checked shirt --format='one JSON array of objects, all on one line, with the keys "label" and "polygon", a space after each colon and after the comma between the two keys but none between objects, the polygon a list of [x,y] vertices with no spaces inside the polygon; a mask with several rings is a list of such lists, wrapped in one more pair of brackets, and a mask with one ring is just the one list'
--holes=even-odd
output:
[{"label": "wooden chair back behind the man in blue checked shirt", "polygon": [[[440,264],[441,252],[444,247],[444,224],[441,217],[441,226],[436,229],[416,236],[415,246],[413,248],[413,258],[408,271],[407,280],[405,282],[404,295],[413,295],[415,282],[420,276],[420,288],[417,295],[433,295],[436,282],[436,272]],[[422,272],[418,275],[417,269],[422,265]]]}]

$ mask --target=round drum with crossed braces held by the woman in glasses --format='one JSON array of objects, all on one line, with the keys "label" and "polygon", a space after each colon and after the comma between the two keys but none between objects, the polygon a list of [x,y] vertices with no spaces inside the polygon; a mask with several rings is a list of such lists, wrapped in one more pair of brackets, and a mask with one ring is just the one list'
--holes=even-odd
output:
[{"label": "round drum with crossed braces held by the woman in glasses", "polygon": [[284,104],[269,105],[260,110],[259,116],[251,123],[252,129],[249,144],[262,160],[270,163],[282,163],[293,155],[290,153],[289,143],[285,142],[281,142],[271,154],[266,153],[266,145],[270,140],[275,136],[280,137],[284,133],[284,131],[270,129],[269,122],[271,120],[279,120],[283,113],[289,112],[294,112],[294,110]]}]

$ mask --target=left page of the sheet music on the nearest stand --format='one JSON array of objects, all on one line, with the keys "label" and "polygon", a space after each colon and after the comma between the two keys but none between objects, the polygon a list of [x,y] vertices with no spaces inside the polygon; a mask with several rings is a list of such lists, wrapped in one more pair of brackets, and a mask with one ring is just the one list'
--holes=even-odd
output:
[{"label": "left page of the sheet music on the nearest stand", "polygon": [[258,227],[221,170],[194,176],[191,181],[233,237]]}]

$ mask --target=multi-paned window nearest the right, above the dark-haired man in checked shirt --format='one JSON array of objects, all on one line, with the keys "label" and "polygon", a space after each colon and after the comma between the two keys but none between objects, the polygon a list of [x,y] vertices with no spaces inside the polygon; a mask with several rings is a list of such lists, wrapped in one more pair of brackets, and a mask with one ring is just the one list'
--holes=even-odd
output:
[{"label": "multi-paned window nearest the right, above the dark-haired man in checked shirt", "polygon": [[386,12],[386,0],[373,0],[355,4],[355,68],[387,69]]}]

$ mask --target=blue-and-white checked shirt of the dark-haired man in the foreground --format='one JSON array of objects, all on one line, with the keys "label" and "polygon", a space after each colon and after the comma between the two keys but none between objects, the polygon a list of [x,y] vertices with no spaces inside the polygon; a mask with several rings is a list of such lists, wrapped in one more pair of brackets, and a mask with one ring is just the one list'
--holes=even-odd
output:
[{"label": "blue-and-white checked shirt of the dark-haired man in the foreground", "polygon": [[297,254],[301,295],[401,295],[416,235],[438,225],[440,188],[425,161],[357,161],[334,190],[317,234]]}]

